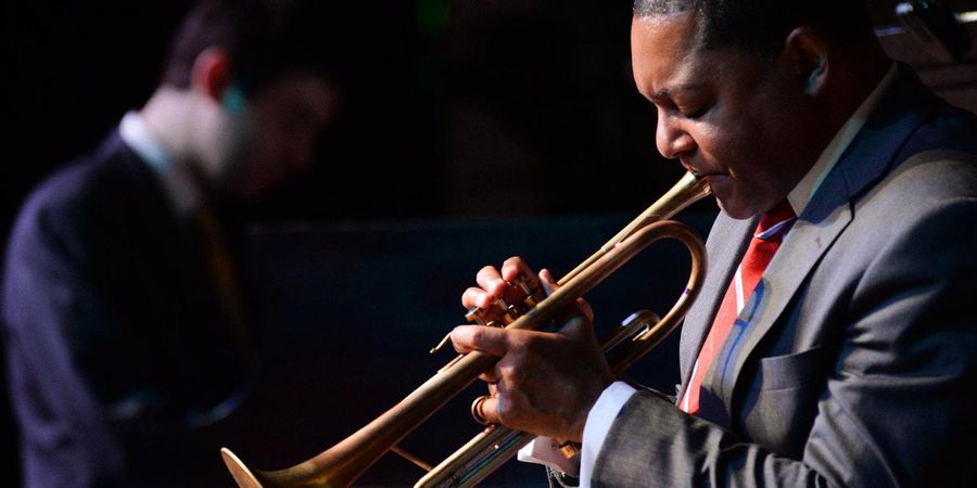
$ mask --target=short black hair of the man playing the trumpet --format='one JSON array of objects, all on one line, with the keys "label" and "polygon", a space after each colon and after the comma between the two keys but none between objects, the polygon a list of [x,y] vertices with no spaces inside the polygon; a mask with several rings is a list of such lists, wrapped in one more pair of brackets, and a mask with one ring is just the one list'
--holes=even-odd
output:
[{"label": "short black hair of the man playing the trumpet", "polygon": [[698,44],[777,53],[797,27],[816,28],[842,42],[871,39],[875,31],[862,0],[635,0],[636,16],[694,13]]}]

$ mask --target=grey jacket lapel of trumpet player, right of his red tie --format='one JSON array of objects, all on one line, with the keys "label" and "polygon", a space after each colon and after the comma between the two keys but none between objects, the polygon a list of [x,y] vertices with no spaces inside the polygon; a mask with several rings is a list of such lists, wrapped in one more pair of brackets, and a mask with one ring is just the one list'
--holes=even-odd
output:
[{"label": "grey jacket lapel of trumpet player, right of his red tie", "polygon": [[[744,307],[740,320],[731,330],[716,361],[703,377],[703,386],[720,397],[727,410],[726,414],[732,413],[728,408],[734,404],[733,394],[744,364],[777,323],[817,261],[855,217],[853,198],[890,169],[899,149],[924,120],[927,112],[911,110],[910,105],[919,100],[918,80],[905,73],[902,69],[903,75],[883,98],[879,108],[852,141],[788,232]],[[743,251],[735,253],[733,262],[724,262],[724,266],[734,268],[741,254]],[[722,299],[728,277],[723,283],[723,290],[718,293],[719,299]],[[718,304],[711,308],[713,314],[715,307]],[[800,321],[805,319],[810,319],[812,323],[820,320],[816,317],[798,318]],[[799,326],[803,326],[803,323]],[[705,332],[701,334],[705,336]],[[701,338],[698,344],[700,343]]]}]

